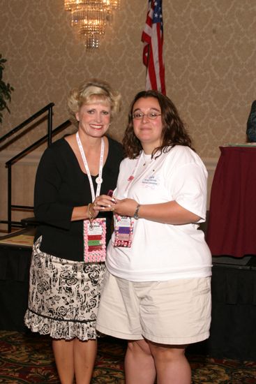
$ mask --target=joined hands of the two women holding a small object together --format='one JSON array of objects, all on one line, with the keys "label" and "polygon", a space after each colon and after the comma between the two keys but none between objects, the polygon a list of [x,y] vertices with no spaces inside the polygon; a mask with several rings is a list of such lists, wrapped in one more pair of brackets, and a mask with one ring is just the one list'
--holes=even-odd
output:
[{"label": "joined hands of the two women holding a small object together", "polygon": [[98,212],[114,212],[121,216],[133,216],[138,203],[133,199],[119,200],[108,195],[100,195],[93,201],[93,211],[96,217]]}]

